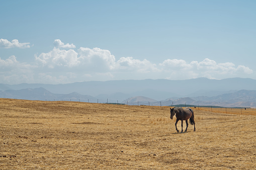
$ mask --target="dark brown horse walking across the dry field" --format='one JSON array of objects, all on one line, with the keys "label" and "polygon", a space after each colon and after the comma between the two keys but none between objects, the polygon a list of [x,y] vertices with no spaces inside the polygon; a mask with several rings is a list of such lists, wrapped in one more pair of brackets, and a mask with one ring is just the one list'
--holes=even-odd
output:
[{"label": "dark brown horse walking across the dry field", "polygon": [[183,120],[186,120],[187,127],[186,127],[185,132],[187,131],[188,126],[189,126],[188,119],[192,125],[194,124],[194,131],[196,131],[195,120],[194,120],[194,111],[191,108],[189,108],[189,107],[186,107],[186,108],[174,107],[172,109],[170,108],[170,119],[173,119],[175,114],[176,114],[176,118],[177,118],[175,127],[176,127],[176,130],[178,133],[179,133],[179,130],[177,129],[177,123],[179,120],[182,121],[182,131],[181,132],[183,132]]}]

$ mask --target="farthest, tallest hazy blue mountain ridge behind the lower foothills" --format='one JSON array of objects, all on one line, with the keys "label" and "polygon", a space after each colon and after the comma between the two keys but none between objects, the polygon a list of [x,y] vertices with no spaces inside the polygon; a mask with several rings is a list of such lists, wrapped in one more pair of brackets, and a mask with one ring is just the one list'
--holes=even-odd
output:
[{"label": "farthest, tallest hazy blue mountain ridge behind the lower foothills", "polygon": [[[0,84],[0,90],[21,90],[42,87],[52,93],[69,94],[77,92],[97,98],[111,98],[125,100],[132,96],[145,96],[155,100],[162,100],[173,96],[197,97],[217,96],[239,90],[256,90],[256,80],[247,78],[229,78],[212,80],[197,78],[190,80],[113,80],[88,81],[69,84]],[[103,98],[101,97],[101,98]]]}]

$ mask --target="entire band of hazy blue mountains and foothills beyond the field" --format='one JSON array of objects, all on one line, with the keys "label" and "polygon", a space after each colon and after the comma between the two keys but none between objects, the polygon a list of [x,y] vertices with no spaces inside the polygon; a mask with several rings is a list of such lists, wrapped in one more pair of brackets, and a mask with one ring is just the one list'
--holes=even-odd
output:
[{"label": "entire band of hazy blue mountains and foothills beyond the field", "polygon": [[256,80],[119,80],[70,84],[0,84],[0,98],[143,105],[256,107]]}]

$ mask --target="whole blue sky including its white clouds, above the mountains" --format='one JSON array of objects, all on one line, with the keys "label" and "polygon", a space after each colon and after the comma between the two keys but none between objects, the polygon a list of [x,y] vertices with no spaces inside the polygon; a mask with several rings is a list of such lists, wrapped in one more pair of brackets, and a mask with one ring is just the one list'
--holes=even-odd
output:
[{"label": "whole blue sky including its white clouds, above the mountains", "polygon": [[0,6],[0,83],[256,79],[256,1]]}]

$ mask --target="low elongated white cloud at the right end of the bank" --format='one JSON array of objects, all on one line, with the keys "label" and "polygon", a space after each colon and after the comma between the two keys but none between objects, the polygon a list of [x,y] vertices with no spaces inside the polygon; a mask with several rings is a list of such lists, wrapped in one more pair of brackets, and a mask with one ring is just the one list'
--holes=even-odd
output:
[{"label": "low elongated white cloud at the right end of the bank", "polygon": [[220,79],[253,73],[248,67],[235,66],[235,64],[230,62],[217,63],[208,58],[200,62],[192,61],[190,63],[185,60],[167,59],[160,63],[159,66],[162,67],[164,72],[169,72],[168,79],[179,79],[182,77],[185,79],[198,77]]}]

